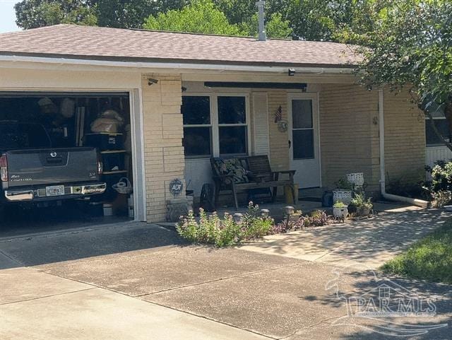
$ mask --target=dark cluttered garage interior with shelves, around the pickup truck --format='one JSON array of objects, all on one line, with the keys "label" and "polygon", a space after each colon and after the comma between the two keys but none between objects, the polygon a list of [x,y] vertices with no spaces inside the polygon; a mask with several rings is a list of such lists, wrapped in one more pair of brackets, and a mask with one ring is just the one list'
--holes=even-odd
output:
[{"label": "dark cluttered garage interior with shelves, around the pickup truck", "polygon": [[97,148],[103,168],[100,180],[107,183],[107,191],[85,202],[86,211],[91,216],[133,218],[131,125],[127,93],[1,95],[0,120],[42,124],[54,148]]}]

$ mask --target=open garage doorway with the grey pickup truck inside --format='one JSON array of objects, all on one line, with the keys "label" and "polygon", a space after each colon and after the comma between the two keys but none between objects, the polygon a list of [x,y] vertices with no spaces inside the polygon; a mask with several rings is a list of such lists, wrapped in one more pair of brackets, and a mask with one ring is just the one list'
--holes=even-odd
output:
[{"label": "open garage doorway with the grey pickup truck inside", "polygon": [[129,93],[0,93],[0,235],[133,219]]}]

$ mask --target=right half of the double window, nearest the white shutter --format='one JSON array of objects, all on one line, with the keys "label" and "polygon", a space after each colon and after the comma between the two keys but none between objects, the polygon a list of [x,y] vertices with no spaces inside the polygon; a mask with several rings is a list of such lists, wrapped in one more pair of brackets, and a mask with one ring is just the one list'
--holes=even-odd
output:
[{"label": "right half of the double window, nearest the white shutter", "polygon": [[246,154],[246,102],[244,97],[218,97],[220,156]]}]

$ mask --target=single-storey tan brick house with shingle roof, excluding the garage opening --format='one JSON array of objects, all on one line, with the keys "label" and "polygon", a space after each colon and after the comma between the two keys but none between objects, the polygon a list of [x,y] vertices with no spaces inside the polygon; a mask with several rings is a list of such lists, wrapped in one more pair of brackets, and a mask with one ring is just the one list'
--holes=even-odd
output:
[{"label": "single-storey tan brick house with shingle roof, excluding the garage opening", "polygon": [[55,25],[0,35],[0,93],[127,93],[136,218],[155,222],[171,180],[195,196],[211,181],[211,156],[267,154],[300,188],[364,172],[378,194],[422,176],[422,112],[357,86],[355,58],[333,42]]}]

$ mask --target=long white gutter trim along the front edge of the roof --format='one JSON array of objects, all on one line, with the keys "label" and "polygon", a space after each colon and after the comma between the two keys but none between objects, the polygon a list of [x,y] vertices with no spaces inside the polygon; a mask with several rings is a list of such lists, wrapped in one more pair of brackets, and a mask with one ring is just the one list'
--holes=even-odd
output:
[{"label": "long white gutter trim along the front edge of the roof", "polygon": [[[104,61],[90,59],[52,58],[52,57],[24,57],[24,56],[2,56],[0,62],[12,63],[37,63],[54,65],[75,65],[75,66],[110,66],[125,67],[135,69],[171,69],[171,70],[218,70],[218,71],[255,71],[255,72],[278,72],[286,73],[290,65],[287,66],[251,66],[251,65],[229,65],[229,64],[194,64],[194,63],[174,63],[174,62],[148,62],[148,61]],[[1,67],[1,65],[0,65]],[[11,67],[8,65],[6,67]],[[296,73],[309,74],[352,74],[353,69],[343,67],[295,67]]]}]

